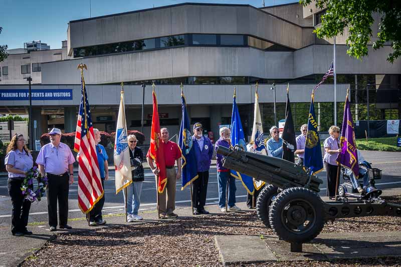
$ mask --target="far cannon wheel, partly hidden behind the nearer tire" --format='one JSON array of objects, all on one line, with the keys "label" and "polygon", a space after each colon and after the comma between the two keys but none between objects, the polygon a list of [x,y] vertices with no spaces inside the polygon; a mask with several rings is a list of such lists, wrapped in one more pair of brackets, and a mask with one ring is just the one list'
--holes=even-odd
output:
[{"label": "far cannon wheel, partly hidden behind the nearer tire", "polygon": [[268,184],[262,189],[259,193],[258,199],[256,200],[256,214],[258,214],[258,218],[263,221],[268,228],[271,228],[269,221],[270,205],[277,196],[277,192],[277,186]]}]

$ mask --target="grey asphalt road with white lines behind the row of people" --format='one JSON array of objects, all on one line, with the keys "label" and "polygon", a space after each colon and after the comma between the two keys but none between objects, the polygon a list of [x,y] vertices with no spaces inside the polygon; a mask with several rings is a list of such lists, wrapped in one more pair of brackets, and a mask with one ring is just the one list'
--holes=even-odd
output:
[{"label": "grey asphalt road with white lines behind the row of people", "polygon": [[[378,152],[363,151],[365,159],[372,163],[372,167],[382,169],[382,179],[376,181],[379,189],[401,187],[401,153],[399,152]],[[320,186],[321,195],[326,195],[326,173],[322,171],[318,174],[323,180]],[[246,190],[241,181],[236,180],[237,184],[237,202],[246,200]],[[176,208],[190,206],[189,187],[181,191],[181,180],[176,184]],[[69,191],[69,218],[83,217],[83,213],[77,204],[78,183],[74,182]],[[122,192],[115,193],[114,171],[109,172],[109,180],[105,181],[106,202],[103,208],[103,214],[113,214],[124,212]],[[209,186],[207,195],[207,204],[215,205],[218,203],[218,184],[216,167],[212,166],[209,175]],[[7,177],[0,177],[0,226],[11,224],[11,200],[7,191]],[[150,169],[145,169],[145,181],[142,186],[140,211],[155,209],[156,207],[156,188],[154,176]],[[179,212],[178,212],[179,213]],[[144,215],[146,216],[146,215]],[[47,221],[47,199],[32,203],[29,216],[29,222]]]}]

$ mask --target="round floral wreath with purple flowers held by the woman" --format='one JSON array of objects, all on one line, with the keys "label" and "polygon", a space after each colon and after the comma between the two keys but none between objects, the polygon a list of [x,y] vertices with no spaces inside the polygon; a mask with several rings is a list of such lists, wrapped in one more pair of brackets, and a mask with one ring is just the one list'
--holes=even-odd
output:
[{"label": "round floral wreath with purple flowers held by the woman", "polygon": [[[34,179],[38,181],[38,188],[34,190]],[[46,191],[48,179],[42,176],[38,167],[34,166],[27,171],[27,176],[21,185],[22,195],[31,202],[40,201]]]}]

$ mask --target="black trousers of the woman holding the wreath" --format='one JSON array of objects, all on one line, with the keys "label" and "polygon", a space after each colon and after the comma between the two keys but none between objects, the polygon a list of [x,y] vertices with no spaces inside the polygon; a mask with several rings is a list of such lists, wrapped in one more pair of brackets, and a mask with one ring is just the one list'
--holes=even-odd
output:
[{"label": "black trousers of the woman holding the wreath", "polygon": [[24,232],[27,230],[29,209],[31,201],[24,199],[21,191],[21,185],[24,180],[12,179],[7,180],[7,187],[13,204],[11,213],[11,232]]}]

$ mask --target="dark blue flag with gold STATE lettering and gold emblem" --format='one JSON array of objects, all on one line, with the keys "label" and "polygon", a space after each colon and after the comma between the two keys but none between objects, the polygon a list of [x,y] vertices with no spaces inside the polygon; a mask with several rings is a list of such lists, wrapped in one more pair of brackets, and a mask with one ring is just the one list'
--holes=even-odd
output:
[{"label": "dark blue flag with gold STATE lettering and gold emblem", "polygon": [[305,141],[304,166],[311,168],[312,173],[318,173],[323,169],[322,149],[320,147],[319,133],[317,132],[317,121],[315,107],[313,106],[313,94],[310,102],[308,132]]}]

